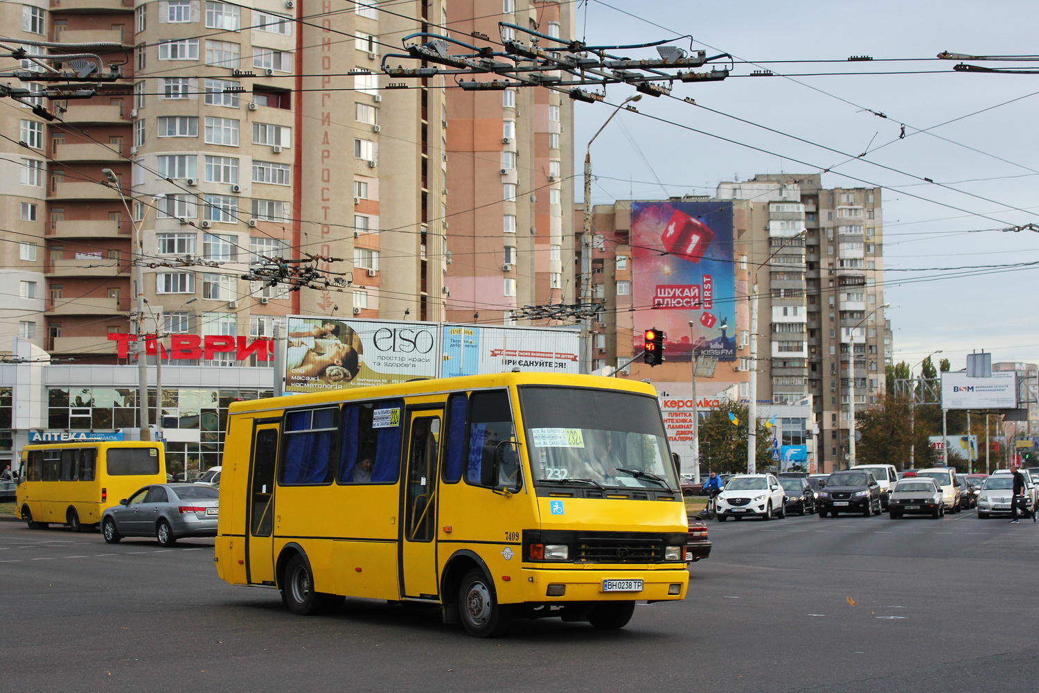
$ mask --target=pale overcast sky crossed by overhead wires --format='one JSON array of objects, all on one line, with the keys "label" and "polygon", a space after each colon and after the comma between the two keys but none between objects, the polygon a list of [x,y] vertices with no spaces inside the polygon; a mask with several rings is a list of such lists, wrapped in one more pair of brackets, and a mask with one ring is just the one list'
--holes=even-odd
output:
[{"label": "pale overcast sky crossed by overhead wires", "polygon": [[[985,267],[1039,263],[1039,234],[1001,231],[1039,228],[1039,74],[958,73],[958,61],[933,59],[941,51],[1039,53],[1039,2],[588,0],[577,12],[578,37],[588,45],[691,34],[692,44],[674,45],[737,60],[725,81],[676,83],[672,92],[721,114],[648,96],[638,109],[676,125],[619,113],[592,145],[593,204],[711,194],[735,177],[824,168],[825,187],[882,186],[895,362],[915,365],[936,349],[953,370],[982,349],[993,362],[1039,361],[1039,265]],[[852,55],[874,60],[848,62]],[[797,60],[834,62],[789,62]],[[969,62],[1039,73],[1039,60]],[[783,76],[750,76],[760,70]],[[924,74],[862,74],[907,72]],[[835,74],[795,77],[809,73]],[[607,101],[634,94],[612,85]],[[579,174],[588,139],[612,110],[577,105]],[[830,150],[867,156],[848,162]],[[580,181],[575,187],[581,194]],[[955,269],[962,267],[970,269]]]}]

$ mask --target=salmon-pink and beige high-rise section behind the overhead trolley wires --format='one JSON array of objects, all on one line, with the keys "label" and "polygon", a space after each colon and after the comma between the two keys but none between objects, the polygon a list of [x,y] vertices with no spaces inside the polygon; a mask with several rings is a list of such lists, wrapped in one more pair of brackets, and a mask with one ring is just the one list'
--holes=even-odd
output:
[{"label": "salmon-pink and beige high-rise section behind the overhead trolley wires", "polygon": [[[447,26],[501,50],[503,39],[533,38],[500,23],[566,38],[575,11],[555,1],[452,0]],[[536,87],[449,89],[445,122],[447,319],[516,324],[524,305],[572,302],[571,100]]]}]

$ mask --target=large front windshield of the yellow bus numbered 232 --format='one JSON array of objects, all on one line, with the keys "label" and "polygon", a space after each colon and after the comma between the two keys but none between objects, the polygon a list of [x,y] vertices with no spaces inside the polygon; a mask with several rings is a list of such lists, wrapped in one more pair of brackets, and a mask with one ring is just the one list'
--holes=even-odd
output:
[{"label": "large front windshield of the yellow bus numbered 232", "polygon": [[520,402],[535,484],[678,488],[655,398],[527,385]]}]

